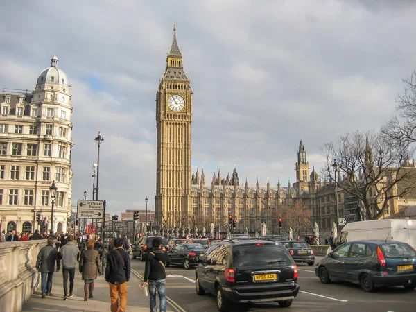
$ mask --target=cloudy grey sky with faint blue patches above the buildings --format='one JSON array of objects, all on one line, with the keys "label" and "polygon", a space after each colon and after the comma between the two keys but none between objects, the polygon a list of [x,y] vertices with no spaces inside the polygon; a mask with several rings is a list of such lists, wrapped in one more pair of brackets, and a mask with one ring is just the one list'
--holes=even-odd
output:
[{"label": "cloudy grey sky with faint blue patches above the buildings", "polygon": [[153,210],[155,94],[175,20],[193,87],[192,166],[211,181],[295,182],[303,139],[378,129],[415,69],[413,1],[6,1],[0,87],[33,89],[56,54],[72,84],[73,205],[92,193],[94,141],[107,211]]}]

